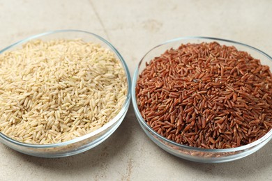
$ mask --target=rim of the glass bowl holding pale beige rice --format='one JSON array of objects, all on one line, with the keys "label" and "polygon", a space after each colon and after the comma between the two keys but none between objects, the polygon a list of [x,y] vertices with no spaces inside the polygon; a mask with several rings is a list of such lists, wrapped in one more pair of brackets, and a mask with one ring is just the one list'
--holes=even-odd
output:
[{"label": "rim of the glass bowl holding pale beige rice", "polygon": [[[95,33],[91,33],[89,31],[77,30],[77,29],[63,29],[63,30],[47,31],[45,33],[39,33],[39,34],[36,34],[34,36],[29,36],[28,38],[24,38],[22,40],[19,40],[19,41],[13,43],[12,45],[9,45],[8,47],[6,47],[4,49],[1,49],[0,54],[2,54],[3,52],[8,51],[9,49],[11,49],[11,48],[13,48],[13,47],[15,47],[17,45],[22,45],[23,43],[28,42],[29,40],[33,40],[33,39],[36,39],[36,38],[43,38],[44,36],[50,36],[50,35],[55,34],[55,33],[85,33],[85,34],[87,34],[89,36],[93,36],[93,37],[97,38],[98,40],[101,40],[107,46],[109,46],[109,50],[114,52],[114,54],[116,54],[117,58],[119,58],[119,60],[121,61],[122,65],[123,65],[123,69],[126,72],[126,79],[127,79],[127,84],[128,84],[128,92],[126,94],[126,101],[123,103],[123,107],[121,108],[119,113],[112,120],[109,120],[109,122],[106,123],[105,125],[103,125],[102,127],[96,129],[93,132],[90,132],[89,134],[85,134],[84,136],[80,136],[80,137],[77,137],[75,139],[71,139],[69,141],[63,141],[61,143],[52,143],[52,144],[45,144],[45,145],[23,143],[23,142],[15,140],[15,139],[11,139],[9,136],[6,136],[2,132],[0,132],[0,138],[4,139],[4,140],[6,140],[6,141],[8,141],[10,143],[14,143],[15,145],[20,145],[20,146],[23,146],[23,147],[26,147],[26,148],[57,148],[57,147],[61,147],[61,146],[70,145],[70,144],[73,144],[73,143],[80,142],[80,141],[82,141],[84,139],[89,139],[91,136],[95,136],[96,134],[99,134],[100,132],[105,131],[105,129],[111,127],[112,125],[114,125],[114,123],[117,123],[118,120],[121,118],[121,116],[123,116],[123,114],[126,113],[126,109],[128,109],[128,107],[129,107],[130,97],[131,97],[131,94],[130,94],[131,78],[130,78],[130,72],[128,70],[128,65],[126,65],[126,61],[123,59],[123,57],[118,52],[118,50],[110,42],[108,42],[107,40],[105,40],[101,36],[96,35]],[[55,38],[55,39],[58,39],[58,38]]]}]

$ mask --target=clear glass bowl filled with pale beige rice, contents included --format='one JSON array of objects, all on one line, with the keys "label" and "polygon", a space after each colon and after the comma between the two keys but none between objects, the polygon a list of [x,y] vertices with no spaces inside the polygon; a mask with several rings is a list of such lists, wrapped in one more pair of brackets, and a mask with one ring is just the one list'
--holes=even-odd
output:
[{"label": "clear glass bowl filled with pale beige rice, contents included", "polygon": [[0,71],[0,141],[14,150],[75,155],[105,141],[126,116],[128,67],[94,33],[50,31],[16,42],[0,56],[6,69]]}]

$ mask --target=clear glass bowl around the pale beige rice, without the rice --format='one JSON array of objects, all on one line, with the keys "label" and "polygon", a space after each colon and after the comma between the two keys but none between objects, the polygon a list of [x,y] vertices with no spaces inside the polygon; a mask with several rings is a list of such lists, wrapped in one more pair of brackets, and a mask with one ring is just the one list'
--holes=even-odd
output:
[{"label": "clear glass bowl around the pale beige rice, without the rice", "polygon": [[22,152],[24,154],[36,157],[67,157],[70,155],[76,155],[80,152],[84,152],[102,143],[122,123],[123,118],[125,118],[126,112],[128,111],[128,107],[130,104],[130,91],[129,91],[131,87],[130,73],[126,65],[126,62],[123,60],[121,54],[119,54],[119,52],[114,48],[114,46],[112,46],[112,44],[110,44],[109,42],[107,42],[107,40],[101,38],[100,36],[97,36],[94,33],[79,30],[50,31],[36,36],[31,36],[29,38],[16,42],[15,44],[10,45],[5,49],[1,50],[0,54],[6,51],[19,48],[22,46],[22,44],[28,42],[29,40],[78,39],[78,38],[86,42],[95,42],[100,44],[102,47],[111,50],[111,52],[114,53],[116,58],[118,58],[119,61],[121,61],[123,69],[126,72],[126,79],[128,82],[128,93],[126,95],[126,101],[124,102],[121,111],[112,120],[110,120],[109,123],[103,125],[103,127],[100,127],[99,129],[96,129],[94,132],[78,137],[76,139],[72,139],[70,141],[46,145],[34,145],[15,141],[14,139],[10,139],[8,136],[0,132],[0,141],[3,144],[7,145],[10,148],[13,148],[14,150],[17,150],[18,152]]}]

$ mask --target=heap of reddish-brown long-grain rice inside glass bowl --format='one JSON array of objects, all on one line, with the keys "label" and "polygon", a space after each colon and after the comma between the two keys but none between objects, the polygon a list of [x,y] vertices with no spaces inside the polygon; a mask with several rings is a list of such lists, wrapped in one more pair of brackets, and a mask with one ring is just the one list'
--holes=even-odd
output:
[{"label": "heap of reddish-brown long-grain rice inside glass bowl", "polygon": [[136,97],[146,123],[183,145],[234,148],[272,128],[269,66],[217,42],[188,43],[153,58]]}]

